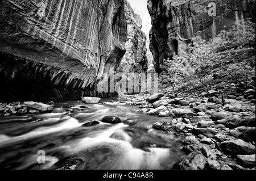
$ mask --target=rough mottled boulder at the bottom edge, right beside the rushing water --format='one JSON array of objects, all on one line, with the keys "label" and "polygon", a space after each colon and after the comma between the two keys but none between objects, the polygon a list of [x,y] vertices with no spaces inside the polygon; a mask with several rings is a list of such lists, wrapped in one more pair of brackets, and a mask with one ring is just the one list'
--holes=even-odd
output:
[{"label": "rough mottled boulder at the bottom edge, right beside the rushing water", "polygon": [[177,170],[204,170],[206,160],[207,158],[199,151],[194,151],[175,163],[174,168]]}]

